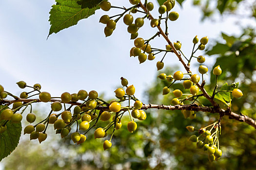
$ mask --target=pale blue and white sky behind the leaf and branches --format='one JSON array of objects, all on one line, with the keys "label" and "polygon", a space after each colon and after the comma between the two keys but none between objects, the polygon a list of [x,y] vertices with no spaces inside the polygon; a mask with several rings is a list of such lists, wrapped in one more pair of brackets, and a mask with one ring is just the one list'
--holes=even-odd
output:
[{"label": "pale blue and white sky behind the leaf and branches", "polygon": [[[131,6],[128,0],[110,2],[115,6]],[[104,14],[119,14],[122,12],[120,9],[111,9],[109,12],[97,10],[95,15],[79,21],[76,26],[50,35],[46,40],[50,29],[49,11],[54,3],[54,0],[0,1],[0,84],[5,90],[19,95],[22,89],[15,83],[23,80],[27,85],[41,84],[41,91],[48,91],[52,96],[60,96],[66,91],[77,93],[85,89],[88,92],[97,90],[109,99],[114,98],[114,90],[120,86],[120,77],[125,77],[129,85],[135,85],[138,99],[146,102],[144,91],[158,75],[156,63],[163,54],[140,65],[137,57],[130,58],[133,40],[130,40],[122,19],[113,34],[105,38],[105,25],[98,22],[99,18]],[[234,17],[216,15],[215,22],[200,22],[200,10],[191,3],[191,0],[186,0],[183,9],[177,4],[173,10],[179,13],[179,18],[169,22],[169,37],[172,42],[182,42],[185,54],[191,53],[195,35],[199,38],[209,36],[210,44],[214,43],[221,32],[229,35],[240,32],[237,18]],[[158,16],[156,5],[152,14]],[[139,16],[143,14],[136,14],[134,18]],[[246,19],[239,21],[240,25],[243,23],[251,24]],[[145,20],[138,37],[148,39],[156,32],[157,28],[151,28],[149,21]],[[161,49],[166,45],[162,37],[156,37],[150,44]],[[198,51],[196,55],[200,54],[203,51]],[[206,56],[207,66],[210,67],[213,62],[214,57]],[[168,54],[164,64],[181,66],[174,54]],[[181,70],[184,71],[184,68]],[[197,68],[194,73],[196,71]]]}]

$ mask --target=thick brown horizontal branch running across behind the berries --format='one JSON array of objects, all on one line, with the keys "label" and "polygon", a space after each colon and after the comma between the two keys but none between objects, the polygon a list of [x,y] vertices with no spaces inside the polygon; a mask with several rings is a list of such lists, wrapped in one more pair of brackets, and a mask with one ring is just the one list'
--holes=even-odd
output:
[{"label": "thick brown horizontal branch running across behind the berries", "polygon": [[[0,102],[0,104],[12,104],[14,102],[32,102],[37,101],[41,102],[39,99],[19,99],[19,100],[3,100]],[[61,102],[61,100],[51,99],[50,102]],[[72,105],[82,105],[83,103],[80,102],[68,102],[66,104],[72,104]],[[85,106],[85,104],[83,104]],[[83,106],[82,105],[82,106]],[[131,106],[132,108],[132,106]],[[109,110],[109,107],[107,106],[98,106],[98,110]],[[188,105],[158,105],[158,104],[143,104],[141,109],[147,110],[147,109],[164,109],[164,110],[192,110],[192,111],[202,111],[202,112],[210,112],[210,113],[218,113],[222,116],[229,116],[229,119],[236,119],[238,121],[245,122],[254,128],[256,128],[256,121],[246,115],[243,114],[236,114],[234,112],[231,112],[230,109],[224,110],[220,109],[219,107],[203,107],[199,106],[197,104],[188,104]],[[125,111],[127,108],[121,109],[120,111]]]}]

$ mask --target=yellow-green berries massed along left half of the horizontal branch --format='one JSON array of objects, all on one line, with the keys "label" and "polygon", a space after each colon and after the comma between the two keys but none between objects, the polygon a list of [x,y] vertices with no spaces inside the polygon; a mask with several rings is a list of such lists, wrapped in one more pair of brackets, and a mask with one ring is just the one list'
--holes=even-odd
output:
[{"label": "yellow-green berries massed along left half of the horizontal branch", "polygon": [[[1,100],[8,95],[16,99],[12,109],[8,108],[11,103],[0,108],[0,120],[2,120],[0,122],[0,133],[6,131],[7,126],[5,124],[8,121],[11,123],[20,123],[22,114],[28,106],[30,106],[30,113],[26,115],[26,120],[29,123],[34,123],[36,121],[36,115],[32,113],[32,103],[34,102],[51,102],[51,111],[45,119],[35,125],[29,124],[24,128],[24,134],[30,134],[30,139],[38,139],[39,143],[47,138],[46,129],[49,124],[53,124],[56,134],[60,134],[61,138],[68,136],[71,132],[72,125],[77,124],[76,132],[71,134],[71,139],[74,143],[81,144],[86,140],[86,133],[97,126],[98,120],[109,121],[109,124],[106,127],[98,127],[94,132],[95,138],[106,137],[107,131],[112,126],[114,127],[112,133],[113,136],[114,131],[121,128],[121,118],[125,112],[129,112],[130,115],[131,121],[128,122],[127,129],[131,133],[137,129],[137,123],[134,119],[145,120],[147,117],[146,113],[143,110],[140,110],[143,103],[134,96],[134,85],[127,86],[128,81],[125,78],[121,78],[121,84],[123,87],[126,87],[126,90],[124,91],[123,88],[117,88],[114,92],[118,100],[111,102],[105,102],[103,99],[100,99],[98,97],[98,92],[95,90],[92,90],[89,93],[85,90],[79,90],[78,93],[73,94],[64,92],[60,97],[53,98],[50,93],[41,92],[41,85],[39,84],[29,86],[26,85],[24,81],[20,81],[17,84],[22,89],[28,87],[32,88],[32,90],[30,92],[22,92],[20,98],[18,98],[17,96],[4,91],[3,86],[0,85],[0,93],[7,94],[5,96],[2,95],[3,97],[1,97]],[[36,92],[36,94],[28,96],[33,92]],[[29,99],[33,96],[38,96],[39,99]],[[122,107],[120,102],[124,101],[128,101],[129,105]],[[131,101],[134,101],[134,106],[130,106]],[[67,107],[67,105],[69,105],[69,107]],[[64,110],[62,109],[62,106],[64,106]],[[18,113],[21,108],[21,112]],[[114,114],[114,116],[112,117],[112,120],[110,120],[112,114]],[[92,122],[95,123],[92,124]],[[111,138],[110,140],[104,141],[104,150],[112,146]]]}]

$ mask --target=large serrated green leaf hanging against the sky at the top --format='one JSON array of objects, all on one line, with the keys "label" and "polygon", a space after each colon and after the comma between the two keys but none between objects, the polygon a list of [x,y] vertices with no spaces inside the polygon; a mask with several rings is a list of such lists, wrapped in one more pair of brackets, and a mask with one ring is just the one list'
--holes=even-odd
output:
[{"label": "large serrated green leaf hanging against the sky at the top", "polygon": [[56,0],[56,2],[58,5],[53,5],[50,11],[49,35],[76,25],[79,20],[90,17],[99,9],[98,6],[82,9],[77,0]]}]

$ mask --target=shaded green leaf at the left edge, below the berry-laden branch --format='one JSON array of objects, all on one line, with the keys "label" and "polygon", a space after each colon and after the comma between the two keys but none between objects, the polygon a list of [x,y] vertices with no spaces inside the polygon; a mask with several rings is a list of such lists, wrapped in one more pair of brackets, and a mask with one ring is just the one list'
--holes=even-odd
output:
[{"label": "shaded green leaf at the left edge, below the berry-laden branch", "polygon": [[[0,108],[3,106],[0,105]],[[8,108],[8,107],[7,107]],[[2,120],[0,123],[2,123]],[[18,146],[21,135],[21,123],[6,123],[7,129],[0,134],[0,161],[11,154]]]}]

